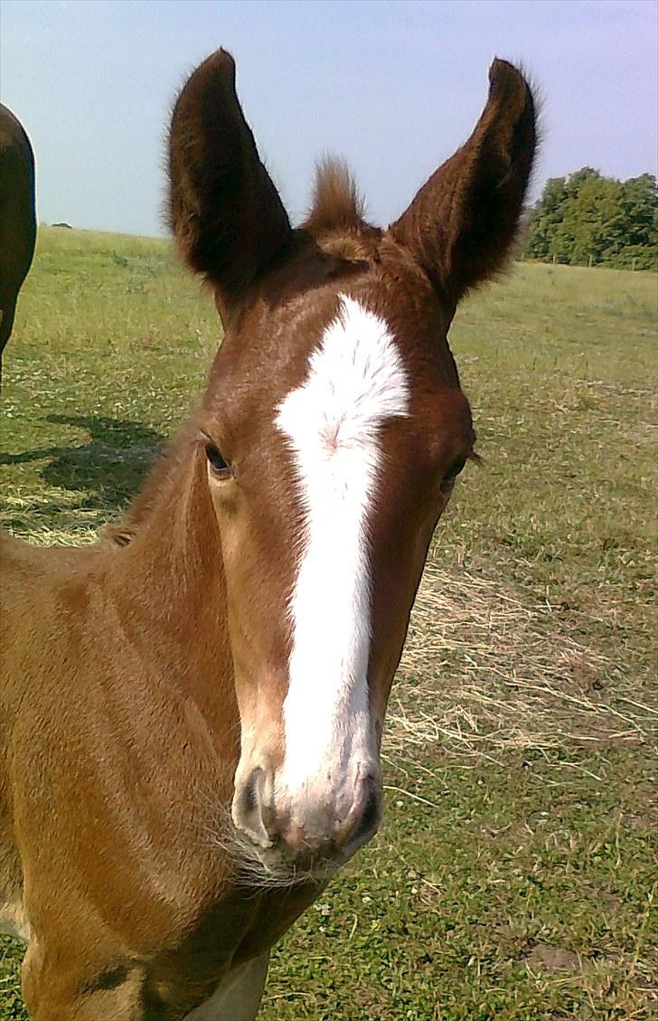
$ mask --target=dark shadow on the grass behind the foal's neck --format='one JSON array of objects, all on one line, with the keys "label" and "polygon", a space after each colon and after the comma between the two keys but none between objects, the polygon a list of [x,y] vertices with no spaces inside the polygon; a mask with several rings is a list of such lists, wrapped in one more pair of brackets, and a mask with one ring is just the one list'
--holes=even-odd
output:
[{"label": "dark shadow on the grass behind the foal's neck", "polygon": [[88,429],[85,446],[52,446],[0,454],[0,465],[47,464],[41,477],[49,486],[84,493],[81,505],[114,512],[138,492],[166,437],[139,422],[101,416],[49,415],[53,425]]}]

